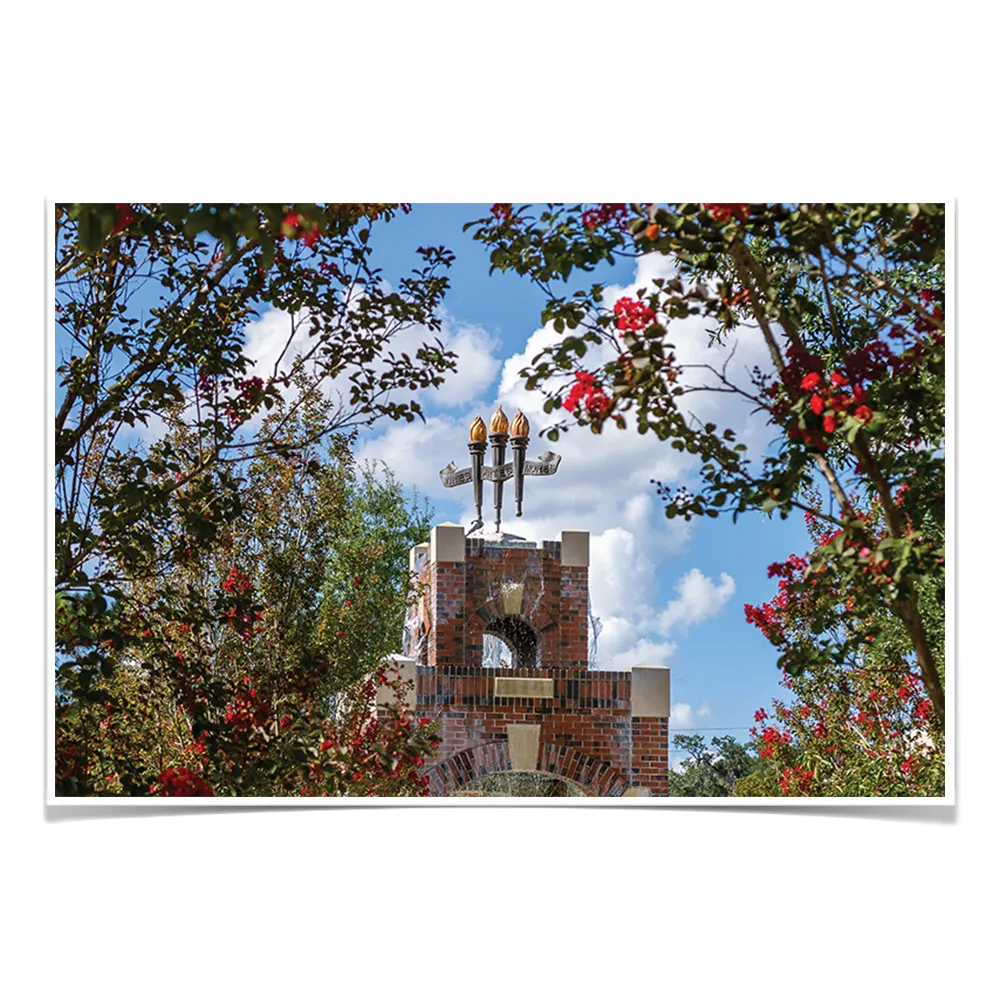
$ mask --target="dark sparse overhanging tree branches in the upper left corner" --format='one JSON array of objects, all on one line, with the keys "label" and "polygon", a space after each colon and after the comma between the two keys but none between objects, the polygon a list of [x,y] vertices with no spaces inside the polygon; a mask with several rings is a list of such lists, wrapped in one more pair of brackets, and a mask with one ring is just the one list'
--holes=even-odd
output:
[{"label": "dark sparse overhanging tree branches in the upper left corner", "polygon": [[[137,640],[119,607],[125,582],[196,558],[227,534],[250,455],[287,456],[378,418],[422,419],[414,396],[455,367],[432,336],[453,257],[419,247],[411,273],[386,283],[373,242],[408,210],[55,207],[54,586],[64,687],[86,696],[116,668],[107,651]],[[247,324],[267,309],[288,326],[264,370],[244,343]],[[427,342],[412,354],[394,349],[413,325],[430,331]],[[301,401],[331,386],[339,405],[305,438],[290,437]],[[280,418],[262,422],[271,412]]]}]

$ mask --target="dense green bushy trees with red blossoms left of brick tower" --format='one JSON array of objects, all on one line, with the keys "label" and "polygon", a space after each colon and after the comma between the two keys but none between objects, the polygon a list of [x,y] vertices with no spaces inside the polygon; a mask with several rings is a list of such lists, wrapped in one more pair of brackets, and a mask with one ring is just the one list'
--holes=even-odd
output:
[{"label": "dense green bushy trees with red blossoms left of brick tower", "polygon": [[[327,421],[315,390],[298,402],[295,422],[281,402],[264,434],[280,423],[301,441]],[[183,451],[196,433],[168,436]],[[430,513],[388,470],[357,467],[351,443],[260,447],[224,535],[133,568],[103,632],[66,640],[77,655],[96,645],[113,669],[85,682],[78,665],[59,667],[58,794],[426,793],[436,727],[407,709],[391,654],[417,596],[407,546]],[[198,478],[171,495],[167,524],[151,523],[159,512],[137,523],[171,537]],[[376,711],[380,686],[392,696]]]}]

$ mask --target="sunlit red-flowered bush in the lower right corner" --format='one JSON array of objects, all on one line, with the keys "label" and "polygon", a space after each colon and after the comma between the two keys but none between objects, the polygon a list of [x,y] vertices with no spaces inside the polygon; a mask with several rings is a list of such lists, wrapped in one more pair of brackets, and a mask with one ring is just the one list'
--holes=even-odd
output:
[{"label": "sunlit red-flowered bush in the lower right corner", "polygon": [[[900,487],[900,504],[907,492]],[[858,497],[851,499],[861,506]],[[863,516],[884,530],[877,496]],[[808,513],[805,519],[817,547],[830,545],[841,530],[831,531]],[[851,654],[837,667],[819,664],[798,676],[783,675],[791,701],[759,708],[750,729],[753,749],[766,766],[736,794],[943,795],[944,744],[903,623],[885,603],[859,601],[853,591],[839,591],[835,580],[808,568],[796,555],[773,563],[768,575],[777,579],[777,594],[758,607],[746,605],[747,621],[783,651],[823,635],[849,646]],[[916,598],[935,660],[943,662],[942,568],[918,585]],[[853,641],[845,641],[849,635]]]}]

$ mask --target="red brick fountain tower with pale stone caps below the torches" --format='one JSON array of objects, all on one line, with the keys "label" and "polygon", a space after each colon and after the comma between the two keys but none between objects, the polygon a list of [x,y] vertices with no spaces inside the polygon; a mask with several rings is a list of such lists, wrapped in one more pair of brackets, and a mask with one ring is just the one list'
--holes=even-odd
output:
[{"label": "red brick fountain tower with pale stone caps below the torches", "polygon": [[[669,671],[588,669],[589,532],[538,546],[439,524],[410,560],[422,597],[397,659],[441,723],[432,795],[504,772],[510,794],[667,794]],[[488,635],[509,667],[483,665]]]}]

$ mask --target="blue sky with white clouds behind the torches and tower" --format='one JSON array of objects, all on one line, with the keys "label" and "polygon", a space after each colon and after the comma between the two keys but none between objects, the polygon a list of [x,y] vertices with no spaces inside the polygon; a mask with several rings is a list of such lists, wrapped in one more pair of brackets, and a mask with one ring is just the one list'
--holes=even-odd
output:
[{"label": "blue sky with white clouds behind the torches and tower", "polygon": [[[730,732],[746,739],[754,710],[782,689],[776,651],[746,623],[743,605],[774,596],[767,566],[809,548],[804,526],[795,516],[782,522],[760,514],[748,514],[735,526],[728,517],[667,521],[650,480],[679,485],[696,470],[687,456],[634,430],[609,428],[595,436],[577,428],[558,444],[539,439],[550,419],[542,413],[544,397],[526,392],[518,372],[556,335],[540,327],[543,293],[513,274],[490,276],[487,250],[471,230],[462,232],[464,223],[488,211],[488,205],[415,203],[409,215],[373,229],[375,261],[390,283],[414,266],[417,246],[444,244],[455,253],[440,336],[458,354],[459,371],[440,390],[422,394],[426,424],[369,428],[359,455],[386,461],[405,485],[428,496],[437,522],[468,525],[471,488],[443,488],[438,471],[450,461],[467,464],[468,426],[476,414],[488,421],[498,402],[508,416],[523,409],[532,425],[529,458],[551,447],[563,462],[556,476],[528,480],[525,516],[515,521],[510,511],[504,528],[536,541],[557,538],[563,528],[589,530],[592,601],[603,624],[599,665],[666,664],[675,732],[701,728],[709,738]],[[580,280],[586,287],[594,280],[615,286],[610,304],[634,291],[637,268],[641,283],[648,283],[666,273],[666,263],[658,255],[623,261]],[[286,324],[263,315],[248,330],[247,353],[266,356]],[[421,332],[413,331],[412,338],[419,342]],[[719,355],[708,347],[698,318],[675,324],[670,339],[682,361]],[[769,361],[759,333],[747,329],[740,332],[734,365],[753,364],[767,367]],[[705,419],[732,426],[752,452],[763,453],[771,435],[743,405],[707,393],[691,398],[701,412],[711,409]]]}]

